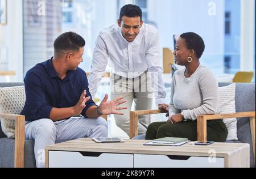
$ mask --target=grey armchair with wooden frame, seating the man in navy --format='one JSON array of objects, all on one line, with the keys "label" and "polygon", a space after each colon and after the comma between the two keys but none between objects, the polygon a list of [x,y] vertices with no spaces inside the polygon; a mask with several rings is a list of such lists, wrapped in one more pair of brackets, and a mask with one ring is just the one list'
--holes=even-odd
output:
[{"label": "grey armchair with wooden frame, seating the man in navy", "polygon": [[[24,83],[0,83],[0,87],[23,86]],[[107,116],[102,116],[107,120]],[[0,168],[36,167],[34,140],[25,139],[25,116],[0,113],[0,118],[15,120],[15,139],[2,133],[0,121]]]}]

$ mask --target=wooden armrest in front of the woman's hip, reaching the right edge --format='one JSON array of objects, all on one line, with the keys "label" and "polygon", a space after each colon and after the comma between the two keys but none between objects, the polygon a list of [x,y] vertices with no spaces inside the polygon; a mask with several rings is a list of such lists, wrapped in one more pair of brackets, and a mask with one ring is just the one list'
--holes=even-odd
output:
[{"label": "wooden armrest in front of the woman's hip, reaching the right edge", "polygon": [[225,118],[250,117],[251,141],[253,143],[253,155],[255,164],[255,111],[232,114],[202,115],[197,117],[197,140],[207,141],[207,121]]}]

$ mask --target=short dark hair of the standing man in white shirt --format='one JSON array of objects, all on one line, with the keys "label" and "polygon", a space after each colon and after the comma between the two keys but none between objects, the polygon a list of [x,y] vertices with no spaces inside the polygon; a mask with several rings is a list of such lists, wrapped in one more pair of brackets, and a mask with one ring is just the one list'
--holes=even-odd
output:
[{"label": "short dark hair of the standing man in white shirt", "polygon": [[121,8],[119,20],[122,21],[123,16],[127,16],[128,18],[136,18],[139,16],[142,21],[141,7],[137,5],[125,5]]}]

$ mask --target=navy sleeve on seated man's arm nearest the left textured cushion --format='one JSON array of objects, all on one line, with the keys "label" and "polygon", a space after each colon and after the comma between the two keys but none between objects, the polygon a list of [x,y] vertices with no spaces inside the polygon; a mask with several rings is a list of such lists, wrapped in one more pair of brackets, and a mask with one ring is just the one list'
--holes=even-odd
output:
[{"label": "navy sleeve on seated man's arm nearest the left textured cushion", "polygon": [[24,78],[26,91],[26,105],[31,116],[26,116],[27,121],[49,118],[52,106],[46,101],[46,94],[43,90],[40,78],[32,72],[28,72]]}]

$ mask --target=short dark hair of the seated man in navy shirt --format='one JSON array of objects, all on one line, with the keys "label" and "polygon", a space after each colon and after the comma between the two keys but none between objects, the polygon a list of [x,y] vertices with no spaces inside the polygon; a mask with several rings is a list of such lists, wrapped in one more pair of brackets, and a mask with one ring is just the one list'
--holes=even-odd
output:
[{"label": "short dark hair of the seated man in navy shirt", "polygon": [[57,37],[53,46],[57,53],[63,50],[77,51],[85,46],[85,40],[75,32],[65,32]]}]

